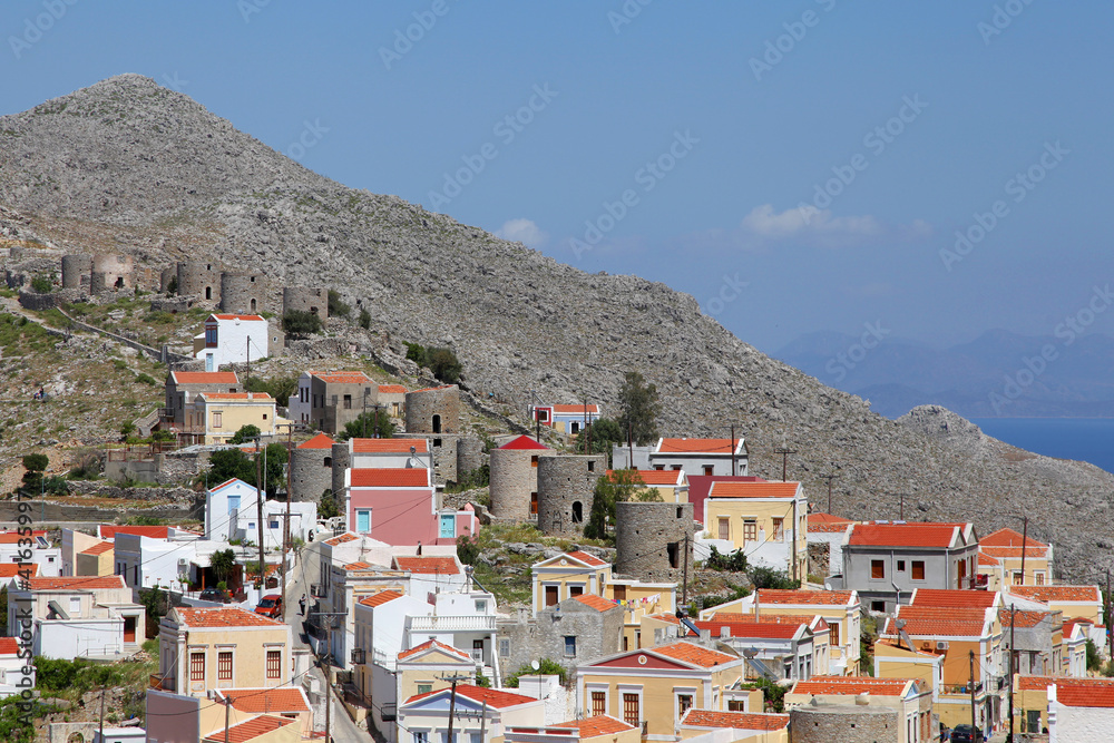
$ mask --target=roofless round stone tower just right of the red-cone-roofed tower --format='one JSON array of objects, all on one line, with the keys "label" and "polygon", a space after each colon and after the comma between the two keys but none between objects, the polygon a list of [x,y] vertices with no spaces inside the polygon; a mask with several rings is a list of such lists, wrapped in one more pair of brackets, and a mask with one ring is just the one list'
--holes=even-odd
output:
[{"label": "roofless round stone tower just right of the red-cone-roofed tower", "polygon": [[538,457],[538,528],[544,534],[584,534],[598,480],[607,470],[604,454]]}]

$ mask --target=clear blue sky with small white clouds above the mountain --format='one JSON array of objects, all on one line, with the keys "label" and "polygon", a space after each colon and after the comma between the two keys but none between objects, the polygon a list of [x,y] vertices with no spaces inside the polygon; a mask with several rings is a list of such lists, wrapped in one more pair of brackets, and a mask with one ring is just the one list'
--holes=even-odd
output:
[{"label": "clear blue sky with small white clouds above the mountain", "polygon": [[148,75],[766,352],[1047,334],[1112,278],[1108,2],[10,0],[0,28],[0,113]]}]

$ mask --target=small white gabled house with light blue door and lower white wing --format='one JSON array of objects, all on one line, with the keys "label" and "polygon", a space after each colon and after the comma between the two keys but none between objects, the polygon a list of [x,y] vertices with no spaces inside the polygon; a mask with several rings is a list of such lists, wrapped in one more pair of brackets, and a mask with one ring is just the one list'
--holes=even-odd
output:
[{"label": "small white gabled house with light blue door and lower white wing", "polygon": [[[281,549],[286,519],[285,501],[267,500],[263,491],[263,548]],[[205,538],[260,542],[260,500],[254,486],[233,478],[205,491]],[[290,504],[290,536],[310,540],[317,522],[313,502]]]}]

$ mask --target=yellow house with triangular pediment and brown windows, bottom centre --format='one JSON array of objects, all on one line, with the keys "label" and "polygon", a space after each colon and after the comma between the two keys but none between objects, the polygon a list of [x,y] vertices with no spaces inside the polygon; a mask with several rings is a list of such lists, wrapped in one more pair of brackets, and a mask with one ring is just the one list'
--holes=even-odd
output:
[{"label": "yellow house with triangular pediment and brown windows, bottom centre", "polygon": [[576,706],[642,727],[644,740],[677,740],[685,712],[725,710],[726,693],[742,681],[743,658],[677,642],[577,666]]}]

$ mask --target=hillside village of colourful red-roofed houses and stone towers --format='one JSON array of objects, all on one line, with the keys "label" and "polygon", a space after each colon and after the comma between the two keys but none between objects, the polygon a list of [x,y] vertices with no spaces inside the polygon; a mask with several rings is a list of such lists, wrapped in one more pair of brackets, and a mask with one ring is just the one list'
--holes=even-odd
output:
[{"label": "hillside village of colourful red-roofed houses and stone towers", "polygon": [[[1108,585],[1065,581],[1027,517],[832,512],[784,446],[763,462],[780,479],[753,475],[743,426],[662,436],[636,369],[612,408],[517,405],[329,286],[6,250],[4,431],[65,421],[0,439],[0,693],[39,682],[39,740],[98,740],[106,686],[99,740],[160,743],[921,743],[1112,720]],[[115,389],[79,392],[71,358]],[[67,698],[62,664],[113,681]]]}]

